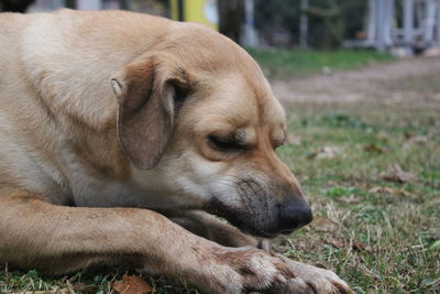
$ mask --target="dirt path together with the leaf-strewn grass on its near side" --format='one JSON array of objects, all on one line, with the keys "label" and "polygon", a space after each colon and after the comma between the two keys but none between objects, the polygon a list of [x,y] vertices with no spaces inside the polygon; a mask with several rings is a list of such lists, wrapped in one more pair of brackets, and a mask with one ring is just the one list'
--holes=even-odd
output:
[{"label": "dirt path together with the leaf-strewn grass on its near side", "polygon": [[[275,251],[336,271],[356,293],[440,293],[440,58],[270,76],[289,123],[278,153],[315,213]],[[0,271],[0,293],[66,288],[67,279],[105,293],[122,273]],[[146,281],[156,293],[196,293]]]}]

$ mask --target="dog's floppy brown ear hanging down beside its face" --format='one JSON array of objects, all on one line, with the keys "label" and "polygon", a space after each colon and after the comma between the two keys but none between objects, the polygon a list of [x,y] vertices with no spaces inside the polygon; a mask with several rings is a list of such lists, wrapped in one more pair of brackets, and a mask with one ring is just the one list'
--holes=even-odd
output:
[{"label": "dog's floppy brown ear hanging down beside its face", "polygon": [[122,149],[136,167],[152,168],[168,143],[175,112],[189,92],[187,75],[147,57],[129,64],[111,84],[119,104]]}]

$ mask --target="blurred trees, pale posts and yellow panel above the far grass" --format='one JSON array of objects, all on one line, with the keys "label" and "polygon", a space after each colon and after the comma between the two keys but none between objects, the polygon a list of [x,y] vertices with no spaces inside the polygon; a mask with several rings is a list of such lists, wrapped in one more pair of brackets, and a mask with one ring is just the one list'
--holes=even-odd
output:
[{"label": "blurred trees, pale posts and yellow panel above the far grass", "polygon": [[376,48],[411,55],[440,46],[438,0],[1,0],[1,10],[124,9],[201,22],[245,46]]}]

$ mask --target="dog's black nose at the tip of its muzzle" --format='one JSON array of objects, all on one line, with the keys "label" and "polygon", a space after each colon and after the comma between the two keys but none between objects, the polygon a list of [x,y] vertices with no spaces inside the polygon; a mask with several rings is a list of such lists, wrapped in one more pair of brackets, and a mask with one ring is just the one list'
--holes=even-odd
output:
[{"label": "dog's black nose at the tip of its muzzle", "polygon": [[289,200],[279,207],[279,227],[292,231],[309,224],[314,219],[310,207],[305,202]]}]

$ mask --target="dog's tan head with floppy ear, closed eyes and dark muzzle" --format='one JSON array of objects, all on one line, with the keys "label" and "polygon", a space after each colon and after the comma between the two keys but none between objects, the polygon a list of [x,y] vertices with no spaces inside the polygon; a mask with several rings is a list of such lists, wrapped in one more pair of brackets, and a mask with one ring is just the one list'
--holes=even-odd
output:
[{"label": "dog's tan head with floppy ear, closed eyes and dark muzzle", "polygon": [[204,208],[253,235],[308,224],[301,188],[275,153],[285,113],[257,64],[209,29],[175,26],[112,79],[135,182],[164,206]]}]

